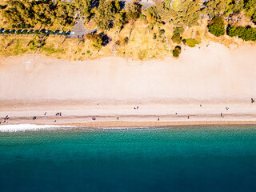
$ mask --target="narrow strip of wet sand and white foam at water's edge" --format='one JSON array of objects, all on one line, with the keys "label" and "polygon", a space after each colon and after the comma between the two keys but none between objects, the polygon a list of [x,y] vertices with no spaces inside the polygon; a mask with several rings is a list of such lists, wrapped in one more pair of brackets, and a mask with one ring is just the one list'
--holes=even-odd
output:
[{"label": "narrow strip of wet sand and white foam at water's edge", "polygon": [[[93,122],[83,124],[6,124],[0,125],[0,134],[11,132],[34,131],[74,131],[74,130],[158,130],[158,129],[186,129],[196,126],[197,129],[236,129],[234,126],[255,126],[256,121],[216,121],[216,122]],[[198,127],[199,126],[199,127]],[[206,126],[206,127],[205,127]],[[210,127],[209,127],[210,126]],[[216,126],[216,127],[214,127]],[[222,127],[224,126],[224,127]],[[231,126],[231,127],[230,127]],[[239,129],[240,127],[238,127]]]}]

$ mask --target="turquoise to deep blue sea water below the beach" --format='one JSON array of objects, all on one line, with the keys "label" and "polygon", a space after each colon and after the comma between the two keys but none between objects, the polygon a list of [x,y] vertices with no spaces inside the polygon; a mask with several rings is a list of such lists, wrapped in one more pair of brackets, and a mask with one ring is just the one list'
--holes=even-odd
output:
[{"label": "turquoise to deep blue sea water below the beach", "polygon": [[0,191],[256,191],[256,126],[0,133]]}]

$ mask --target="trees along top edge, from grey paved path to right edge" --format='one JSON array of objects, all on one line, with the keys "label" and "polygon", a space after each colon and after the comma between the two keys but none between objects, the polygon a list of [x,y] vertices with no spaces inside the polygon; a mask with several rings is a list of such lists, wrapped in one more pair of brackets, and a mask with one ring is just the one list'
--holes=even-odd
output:
[{"label": "trees along top edge, from grey paved path to right edge", "polygon": [[166,0],[155,1],[155,5],[146,10],[142,10],[142,6],[136,1],[126,4],[126,9],[123,9],[122,3],[118,0],[96,2],[95,0],[75,0],[75,6],[81,10],[80,14],[86,22],[94,19],[101,30],[116,28],[120,31],[127,22],[138,18],[147,22],[149,30],[157,24],[164,23],[183,28],[198,26],[198,19],[202,14],[214,18],[222,15],[228,17],[244,11],[253,21],[256,18],[256,0],[215,0],[204,3],[201,0]]}]

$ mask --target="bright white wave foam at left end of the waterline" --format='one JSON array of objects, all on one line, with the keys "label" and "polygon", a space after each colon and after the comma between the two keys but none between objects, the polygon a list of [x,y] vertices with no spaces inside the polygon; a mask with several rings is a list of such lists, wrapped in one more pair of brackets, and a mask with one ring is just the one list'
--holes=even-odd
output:
[{"label": "bright white wave foam at left end of the waterline", "polygon": [[58,130],[62,128],[70,128],[73,126],[55,126],[55,125],[34,125],[34,124],[18,124],[18,125],[2,125],[0,132],[17,132],[26,130]]}]

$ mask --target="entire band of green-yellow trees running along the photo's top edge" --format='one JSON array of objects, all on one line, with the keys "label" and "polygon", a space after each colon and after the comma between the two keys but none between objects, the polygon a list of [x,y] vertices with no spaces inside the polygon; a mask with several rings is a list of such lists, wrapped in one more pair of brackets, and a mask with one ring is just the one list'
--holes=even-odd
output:
[{"label": "entire band of green-yellow trees running along the photo's top edge", "polygon": [[[171,4],[170,4],[171,2]],[[171,6],[170,6],[171,5]],[[125,8],[125,9],[124,9]],[[152,30],[156,24],[171,23],[175,27],[198,25],[198,18],[207,14],[210,18],[230,16],[245,11],[256,22],[256,0],[215,0],[202,3],[201,0],[156,1],[154,6],[142,10],[139,2],[127,3],[124,7],[118,0],[74,0],[66,3],[61,0],[9,0],[2,6],[2,16],[11,24],[35,26],[66,26],[74,24],[75,18],[82,16],[94,22],[100,30],[122,30],[130,21],[141,18]]]}]

